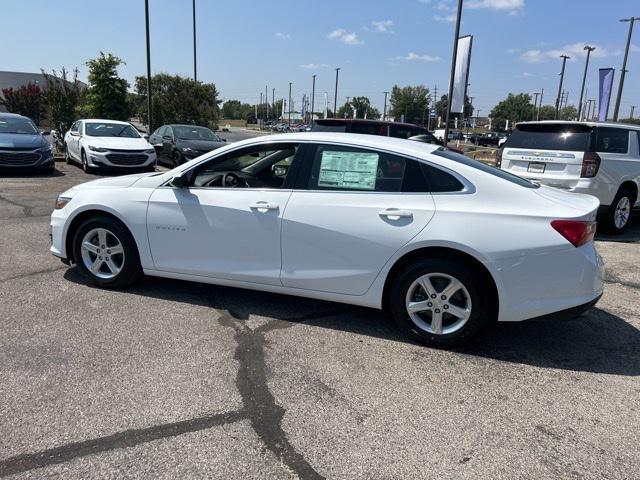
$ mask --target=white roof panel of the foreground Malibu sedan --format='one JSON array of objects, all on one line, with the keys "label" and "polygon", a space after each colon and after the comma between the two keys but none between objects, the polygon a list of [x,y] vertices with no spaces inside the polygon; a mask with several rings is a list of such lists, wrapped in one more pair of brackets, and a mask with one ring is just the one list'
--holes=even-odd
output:
[{"label": "white roof panel of the foreground Malibu sedan", "polygon": [[247,140],[242,140],[230,145],[230,147],[253,145],[269,142],[326,142],[339,143],[354,147],[377,148],[388,150],[398,154],[415,157],[424,157],[439,148],[439,145],[405,140],[403,138],[386,137],[381,135],[364,135],[361,133],[336,133],[336,132],[300,132],[283,133],[277,135],[263,135]]}]

